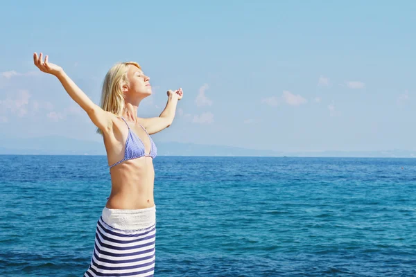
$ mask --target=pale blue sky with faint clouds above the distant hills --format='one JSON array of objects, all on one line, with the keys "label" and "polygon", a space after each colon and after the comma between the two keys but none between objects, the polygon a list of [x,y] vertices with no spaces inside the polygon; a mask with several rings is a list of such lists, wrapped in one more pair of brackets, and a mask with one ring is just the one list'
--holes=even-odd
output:
[{"label": "pale blue sky with faint clouds above the distant hills", "polygon": [[[85,3],[87,2],[87,3]],[[102,141],[49,55],[99,104],[105,73],[138,62],[157,141],[277,151],[416,150],[415,1],[5,1],[0,136]]]}]

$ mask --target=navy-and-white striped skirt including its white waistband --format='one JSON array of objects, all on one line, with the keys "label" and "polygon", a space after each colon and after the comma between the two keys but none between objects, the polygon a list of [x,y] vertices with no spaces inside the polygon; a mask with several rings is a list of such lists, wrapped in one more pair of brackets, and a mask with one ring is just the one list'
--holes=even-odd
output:
[{"label": "navy-and-white striped skirt including its white waistband", "polygon": [[96,226],[91,263],[84,277],[153,276],[155,206],[140,210],[103,209]]}]

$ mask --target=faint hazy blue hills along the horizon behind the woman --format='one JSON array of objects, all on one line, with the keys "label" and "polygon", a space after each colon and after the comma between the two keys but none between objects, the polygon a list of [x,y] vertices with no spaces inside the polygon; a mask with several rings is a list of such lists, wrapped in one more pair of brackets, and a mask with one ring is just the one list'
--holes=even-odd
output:
[{"label": "faint hazy blue hills along the horizon behind the woman", "polygon": [[[193,143],[159,142],[161,156],[222,156],[222,157],[390,157],[413,158],[416,151],[324,151],[324,152],[277,152],[254,150],[221,145],[200,145]],[[0,138],[0,154],[62,154],[62,155],[105,155],[103,143],[82,141],[61,136],[42,138]]]}]

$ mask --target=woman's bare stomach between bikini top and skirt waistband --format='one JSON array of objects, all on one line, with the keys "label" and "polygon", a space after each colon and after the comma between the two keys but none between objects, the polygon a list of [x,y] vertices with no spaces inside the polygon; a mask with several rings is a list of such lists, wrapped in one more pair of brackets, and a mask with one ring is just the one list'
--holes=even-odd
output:
[{"label": "woman's bare stomach between bikini top and skirt waistband", "polygon": [[111,194],[105,206],[137,210],[155,206],[153,184],[155,170],[150,157],[132,159],[111,168]]}]

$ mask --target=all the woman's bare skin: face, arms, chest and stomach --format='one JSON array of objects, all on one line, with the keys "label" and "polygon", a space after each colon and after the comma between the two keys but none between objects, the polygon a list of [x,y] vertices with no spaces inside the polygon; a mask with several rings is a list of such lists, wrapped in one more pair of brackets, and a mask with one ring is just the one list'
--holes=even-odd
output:
[{"label": "all the woman's bare skin: face, arms, chest and stomach", "polygon": [[[104,111],[64,73],[63,69],[52,64],[48,56],[43,59],[42,53],[33,54],[33,62],[40,71],[54,75],[60,80],[62,86],[69,96],[87,112],[92,123],[103,132],[107,161],[109,165],[120,161],[124,157],[125,140],[128,136],[128,127],[124,121]],[[130,132],[134,132],[144,143],[145,153],[150,153],[150,139],[148,134],[155,134],[169,127],[173,118],[177,101],[182,99],[182,89],[176,91],[168,90],[168,101],[162,114],[153,118],[137,117],[137,109],[141,100],[150,96],[152,87],[150,78],[144,75],[141,69],[130,65],[127,71],[128,83],[122,84],[122,91],[125,96],[125,111],[123,118],[127,121]],[[144,129],[141,127],[143,126]],[[153,186],[155,170],[151,157],[141,157],[124,161],[110,169],[112,188],[110,198],[105,206],[114,209],[141,209],[155,206],[153,197]]]}]

